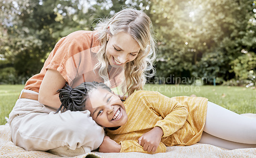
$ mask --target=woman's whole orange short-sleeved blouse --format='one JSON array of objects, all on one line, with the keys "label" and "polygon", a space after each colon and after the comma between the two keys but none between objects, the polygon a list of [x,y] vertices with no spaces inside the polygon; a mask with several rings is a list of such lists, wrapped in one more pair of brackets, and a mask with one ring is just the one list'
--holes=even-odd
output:
[{"label": "woman's whole orange short-sleeved blouse", "polygon": [[[97,40],[96,31],[76,31],[61,38],[45,61],[40,73],[27,81],[25,89],[38,92],[48,69],[58,71],[72,87],[82,82],[104,82],[98,74],[99,69],[95,69],[98,63],[96,54],[99,49],[100,43]],[[109,67],[112,87],[116,87],[121,84],[122,67],[117,69],[110,65]]]}]

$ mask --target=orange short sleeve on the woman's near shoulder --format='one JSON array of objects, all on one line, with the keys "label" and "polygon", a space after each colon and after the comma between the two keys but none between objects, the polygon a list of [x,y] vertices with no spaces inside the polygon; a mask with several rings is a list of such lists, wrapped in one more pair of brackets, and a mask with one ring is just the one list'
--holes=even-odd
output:
[{"label": "orange short sleeve on the woman's near shoulder", "polygon": [[76,31],[61,38],[49,56],[50,61],[45,69],[57,70],[72,85],[74,79],[83,73],[82,66],[93,64],[90,51],[92,41],[93,32],[87,31]]}]

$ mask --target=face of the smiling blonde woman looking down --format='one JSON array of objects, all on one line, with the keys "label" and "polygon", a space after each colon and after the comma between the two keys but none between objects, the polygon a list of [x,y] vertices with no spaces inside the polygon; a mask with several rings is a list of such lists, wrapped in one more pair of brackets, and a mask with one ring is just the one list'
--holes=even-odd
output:
[{"label": "face of the smiling blonde woman looking down", "polygon": [[139,51],[138,42],[126,32],[119,32],[114,36],[109,36],[106,44],[106,57],[113,67],[123,66],[124,63],[133,61]]}]

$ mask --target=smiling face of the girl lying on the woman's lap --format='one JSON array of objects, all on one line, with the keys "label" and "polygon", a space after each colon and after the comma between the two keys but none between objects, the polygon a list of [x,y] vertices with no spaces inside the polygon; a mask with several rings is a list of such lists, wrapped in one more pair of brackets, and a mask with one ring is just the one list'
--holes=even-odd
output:
[{"label": "smiling face of the girl lying on the woman's lap", "polygon": [[127,121],[123,102],[106,89],[91,91],[86,101],[86,109],[91,112],[93,120],[102,127],[118,127]]}]

